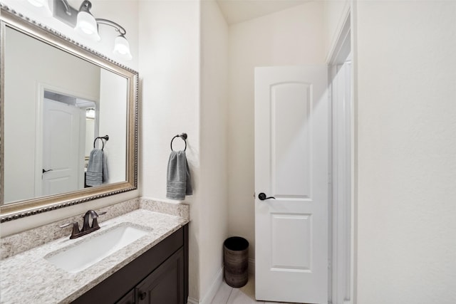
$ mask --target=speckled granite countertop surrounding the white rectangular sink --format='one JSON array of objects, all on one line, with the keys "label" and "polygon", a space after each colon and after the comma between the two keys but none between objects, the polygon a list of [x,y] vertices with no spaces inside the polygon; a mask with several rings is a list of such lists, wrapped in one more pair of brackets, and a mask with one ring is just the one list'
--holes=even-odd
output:
[{"label": "speckled granite countertop surrounding the white rectangular sink", "polygon": [[[69,273],[44,258],[125,222],[150,232],[83,271]],[[81,238],[66,236],[5,258],[0,261],[0,303],[70,303],[187,223],[180,216],[138,209],[100,223],[100,230]]]}]

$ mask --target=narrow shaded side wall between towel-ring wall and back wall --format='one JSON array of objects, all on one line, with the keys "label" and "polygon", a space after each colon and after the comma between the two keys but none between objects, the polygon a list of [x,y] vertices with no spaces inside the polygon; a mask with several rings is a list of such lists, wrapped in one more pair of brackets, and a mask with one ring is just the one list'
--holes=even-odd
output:
[{"label": "narrow shaded side wall between towel-ring wall and back wall", "polygon": [[[222,278],[228,234],[228,26],[214,0],[201,2],[199,300],[212,299]],[[217,281],[219,280],[219,281]]]}]

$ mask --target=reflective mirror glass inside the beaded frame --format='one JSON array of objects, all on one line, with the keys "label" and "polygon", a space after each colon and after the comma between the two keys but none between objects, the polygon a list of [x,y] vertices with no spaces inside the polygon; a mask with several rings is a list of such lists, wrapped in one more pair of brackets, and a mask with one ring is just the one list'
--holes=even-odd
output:
[{"label": "reflective mirror glass inside the beaded frame", "polygon": [[[4,75],[4,204],[125,181],[125,78],[9,27]],[[101,134],[106,165],[87,172]]]}]

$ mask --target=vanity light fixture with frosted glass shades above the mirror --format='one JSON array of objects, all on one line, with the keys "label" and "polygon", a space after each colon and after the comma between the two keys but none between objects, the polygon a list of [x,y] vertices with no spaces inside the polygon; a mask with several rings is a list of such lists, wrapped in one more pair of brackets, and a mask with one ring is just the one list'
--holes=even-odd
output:
[{"label": "vanity light fixture with frosted glass shades above the mirror", "polygon": [[[40,0],[29,0],[29,1],[40,1]],[[104,24],[115,28],[120,35],[115,38],[113,53],[119,58],[130,61],[133,57],[130,53],[130,43],[125,38],[125,28],[120,24],[110,21],[108,19],[95,19],[90,13],[92,4],[88,0],[84,0],[79,10],[74,9],[68,4],[67,0],[53,0],[54,11],[53,15],[56,19],[67,23],[72,26],[76,32],[86,38],[90,38],[93,41],[100,41],[101,37],[98,34],[98,25]]]}]

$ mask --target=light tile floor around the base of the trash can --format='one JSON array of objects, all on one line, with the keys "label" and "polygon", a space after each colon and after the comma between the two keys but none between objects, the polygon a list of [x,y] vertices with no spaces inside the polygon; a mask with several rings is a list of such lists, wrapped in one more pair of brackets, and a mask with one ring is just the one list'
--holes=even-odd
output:
[{"label": "light tile floor around the base of the trash can", "polygon": [[[255,277],[249,274],[249,281],[244,287],[232,288],[223,281],[212,299],[212,304],[274,304],[277,302],[264,302],[255,300]],[[286,303],[280,303],[286,304]]]}]

